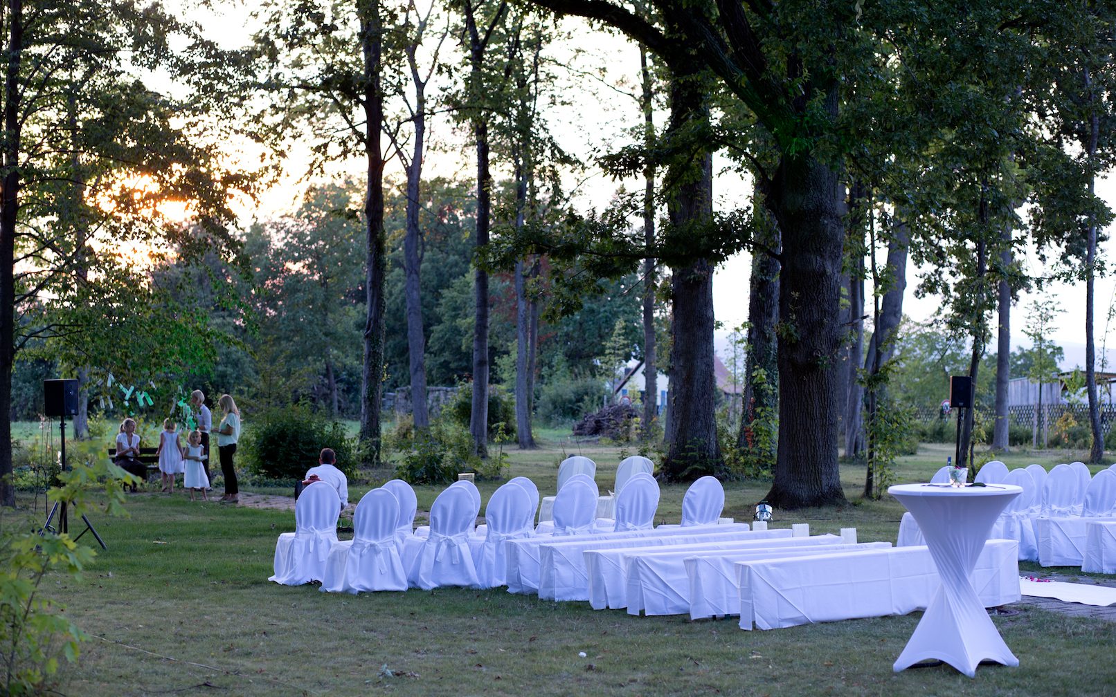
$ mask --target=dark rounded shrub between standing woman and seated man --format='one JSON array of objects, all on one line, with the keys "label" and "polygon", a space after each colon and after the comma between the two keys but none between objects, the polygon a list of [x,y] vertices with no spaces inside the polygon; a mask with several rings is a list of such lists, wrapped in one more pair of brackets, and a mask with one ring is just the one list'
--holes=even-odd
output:
[{"label": "dark rounded shrub between standing woman and seated man", "polygon": [[337,453],[337,467],[346,475],[356,474],[359,463],[355,439],[346,436],[339,422],[330,422],[305,405],[269,409],[246,423],[240,439],[241,462],[253,473],[273,480],[301,480],[318,464],[321,448]]}]

